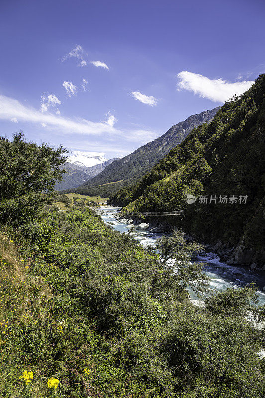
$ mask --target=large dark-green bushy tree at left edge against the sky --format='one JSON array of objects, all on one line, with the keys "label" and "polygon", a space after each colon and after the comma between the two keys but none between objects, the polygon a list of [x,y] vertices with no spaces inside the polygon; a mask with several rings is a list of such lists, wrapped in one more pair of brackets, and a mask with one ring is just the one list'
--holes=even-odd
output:
[{"label": "large dark-green bushy tree at left edge against the sky", "polygon": [[54,184],[61,180],[59,166],[66,150],[24,140],[22,132],[13,141],[0,137],[0,221],[18,224],[55,195]]}]

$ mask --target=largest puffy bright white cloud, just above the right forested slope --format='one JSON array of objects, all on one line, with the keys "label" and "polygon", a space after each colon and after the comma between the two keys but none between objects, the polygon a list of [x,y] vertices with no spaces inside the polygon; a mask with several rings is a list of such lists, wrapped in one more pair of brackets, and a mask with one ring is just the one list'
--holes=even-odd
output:
[{"label": "largest puffy bright white cloud, just above the right forested slope", "polygon": [[252,81],[230,83],[223,79],[209,79],[197,73],[182,71],[177,75],[178,90],[193,91],[200,97],[208,98],[213,102],[225,102],[234,94],[240,95],[250,88]]}]

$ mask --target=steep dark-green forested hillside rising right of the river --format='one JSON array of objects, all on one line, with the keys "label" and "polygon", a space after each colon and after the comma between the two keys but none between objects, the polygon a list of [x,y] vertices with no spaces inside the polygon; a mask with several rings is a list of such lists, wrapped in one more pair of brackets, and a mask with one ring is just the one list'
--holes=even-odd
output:
[{"label": "steep dark-green forested hillside rising right of the river", "polygon": [[[109,202],[127,206],[125,211],[184,209],[172,222],[197,238],[236,246],[234,263],[264,259],[264,96],[262,74],[241,97],[226,102],[210,124],[194,128],[140,182]],[[187,194],[196,202],[187,204]]]}]

